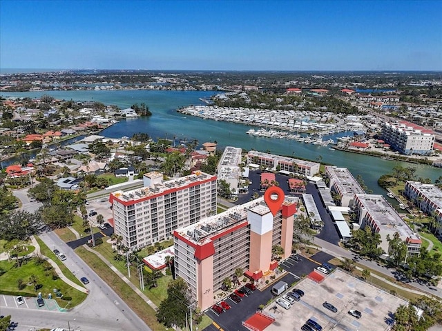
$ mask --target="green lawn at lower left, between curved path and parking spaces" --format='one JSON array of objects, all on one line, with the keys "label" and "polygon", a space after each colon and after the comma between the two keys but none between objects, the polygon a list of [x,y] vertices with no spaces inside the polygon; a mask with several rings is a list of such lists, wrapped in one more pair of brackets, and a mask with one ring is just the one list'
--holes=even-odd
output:
[{"label": "green lawn at lower left, between curved path and parking spaces", "polygon": [[[23,295],[41,292],[44,297],[47,297],[49,293],[52,293],[52,289],[57,288],[64,297],[72,298],[70,308],[78,305],[87,297],[86,293],[71,288],[61,279],[52,279],[52,270],[44,270],[44,264],[38,264],[35,258],[28,260],[28,263],[23,263],[19,268],[15,268],[14,265],[15,262],[0,261],[0,268],[6,270],[6,273],[0,276],[1,290],[3,291],[23,292]],[[32,274],[37,277],[40,288],[36,291],[33,285],[26,285],[26,288],[19,290],[17,279],[23,279],[25,283],[28,283]],[[57,299],[57,302],[61,308],[64,308],[69,301]]]}]

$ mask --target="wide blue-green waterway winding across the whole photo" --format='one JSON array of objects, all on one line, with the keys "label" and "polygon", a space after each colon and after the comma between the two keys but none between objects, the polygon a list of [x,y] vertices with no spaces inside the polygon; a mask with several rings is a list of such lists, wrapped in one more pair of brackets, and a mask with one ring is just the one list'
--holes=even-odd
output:
[{"label": "wide blue-green waterway winding across the whole photo", "polygon": [[[398,161],[387,161],[377,157],[368,157],[361,154],[331,151],[328,147],[316,146],[298,141],[285,139],[269,139],[254,137],[245,132],[249,126],[238,123],[212,121],[190,117],[176,112],[177,108],[189,105],[202,104],[200,97],[209,97],[213,92],[200,91],[146,91],[146,90],[113,90],[113,91],[46,91],[7,93],[2,96],[11,97],[41,97],[43,94],[51,95],[57,99],[73,99],[75,101],[100,101],[120,108],[132,106],[134,103],[146,103],[153,112],[151,117],[125,119],[107,128],[102,132],[106,137],[131,137],[137,132],[146,132],[153,139],[176,137],[176,141],[198,139],[205,141],[218,141],[221,147],[236,146],[245,150],[269,151],[273,154],[293,155],[306,159],[316,160],[322,157],[327,163],[340,167],[347,167],[354,177],[361,174],[366,185],[375,193],[385,193],[378,187],[377,180],[381,174],[392,172],[396,164],[416,167],[418,177],[430,178],[433,181],[442,176],[442,170],[430,165],[415,165]],[[338,134],[340,136],[347,133]],[[329,139],[329,138],[325,138]]]}]

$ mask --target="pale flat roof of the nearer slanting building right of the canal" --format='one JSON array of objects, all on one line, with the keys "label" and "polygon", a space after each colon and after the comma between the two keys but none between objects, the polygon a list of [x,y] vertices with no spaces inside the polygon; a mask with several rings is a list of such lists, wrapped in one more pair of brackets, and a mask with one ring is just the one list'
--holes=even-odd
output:
[{"label": "pale flat roof of the nearer slanting building right of the canal", "polygon": [[356,194],[367,212],[373,217],[374,221],[381,230],[385,232],[398,232],[401,239],[421,239],[416,232],[414,232],[403,221],[399,214],[394,210],[392,205],[388,203],[380,194]]}]

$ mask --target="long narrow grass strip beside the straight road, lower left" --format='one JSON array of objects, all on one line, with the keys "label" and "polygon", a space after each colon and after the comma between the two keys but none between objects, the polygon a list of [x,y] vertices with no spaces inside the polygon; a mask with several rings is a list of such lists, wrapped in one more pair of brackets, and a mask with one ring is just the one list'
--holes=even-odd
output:
[{"label": "long narrow grass strip beside the straight road, lower left", "polygon": [[[106,281],[111,288],[121,297],[124,302],[142,319],[153,331],[167,330],[164,325],[157,322],[155,310],[151,308],[142,298],[140,298],[129,285],[108,268],[108,266],[95,254],[88,252],[83,247],[79,247],[75,252],[88,265],[97,272],[99,277]],[[136,277],[136,274],[135,274]]]}]

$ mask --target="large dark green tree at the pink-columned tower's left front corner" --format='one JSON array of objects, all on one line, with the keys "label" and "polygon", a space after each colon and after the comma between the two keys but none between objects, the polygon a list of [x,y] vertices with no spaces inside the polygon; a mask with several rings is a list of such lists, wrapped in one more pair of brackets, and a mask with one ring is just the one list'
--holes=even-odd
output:
[{"label": "large dark green tree at the pink-columned tower's left front corner", "polygon": [[179,278],[171,281],[167,288],[167,298],[162,301],[157,310],[157,320],[171,328],[177,325],[183,328],[186,325],[186,312],[189,311],[191,301],[186,282]]}]

